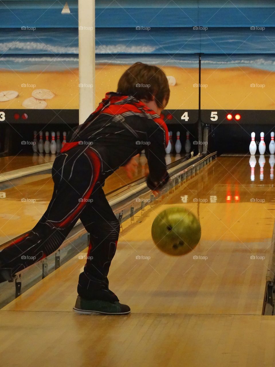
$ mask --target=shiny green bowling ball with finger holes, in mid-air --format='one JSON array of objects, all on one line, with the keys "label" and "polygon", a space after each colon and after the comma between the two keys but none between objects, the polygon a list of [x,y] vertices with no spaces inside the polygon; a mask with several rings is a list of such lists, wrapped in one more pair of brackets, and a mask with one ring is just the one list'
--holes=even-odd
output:
[{"label": "shiny green bowling ball with finger holes, in mid-air", "polygon": [[159,250],[180,256],[192,251],[201,239],[198,218],[184,207],[170,207],[160,212],[151,228]]}]

